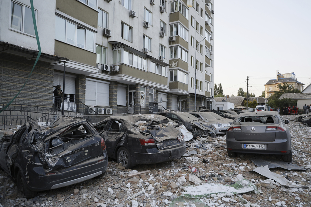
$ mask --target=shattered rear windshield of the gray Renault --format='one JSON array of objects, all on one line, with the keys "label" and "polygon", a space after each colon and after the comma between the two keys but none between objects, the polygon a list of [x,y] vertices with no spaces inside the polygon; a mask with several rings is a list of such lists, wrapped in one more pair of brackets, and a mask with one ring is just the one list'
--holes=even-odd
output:
[{"label": "shattered rear windshield of the gray Renault", "polygon": [[279,124],[280,120],[276,116],[262,115],[262,116],[241,116],[234,121],[236,125],[266,125]]}]

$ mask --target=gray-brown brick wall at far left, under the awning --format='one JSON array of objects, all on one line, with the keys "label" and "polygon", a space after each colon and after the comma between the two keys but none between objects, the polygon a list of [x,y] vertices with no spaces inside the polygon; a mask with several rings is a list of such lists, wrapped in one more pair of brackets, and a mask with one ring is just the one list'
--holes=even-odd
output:
[{"label": "gray-brown brick wall at far left, under the awning", "polygon": [[[0,54],[0,103],[9,103],[26,82],[35,60]],[[12,104],[52,107],[54,65],[38,61],[26,85]]]}]

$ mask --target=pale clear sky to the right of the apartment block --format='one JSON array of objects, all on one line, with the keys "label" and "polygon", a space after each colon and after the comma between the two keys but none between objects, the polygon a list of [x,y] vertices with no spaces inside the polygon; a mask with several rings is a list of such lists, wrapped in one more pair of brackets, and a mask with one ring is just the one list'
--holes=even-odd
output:
[{"label": "pale clear sky to the right of the apartment block", "polygon": [[[256,97],[276,73],[311,81],[310,0],[214,0],[214,83]],[[277,71],[277,72],[276,72]]]}]

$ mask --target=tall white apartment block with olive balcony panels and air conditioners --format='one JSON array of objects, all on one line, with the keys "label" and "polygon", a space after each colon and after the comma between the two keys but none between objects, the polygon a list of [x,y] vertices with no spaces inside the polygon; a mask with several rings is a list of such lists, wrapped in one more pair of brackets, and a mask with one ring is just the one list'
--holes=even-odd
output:
[{"label": "tall white apartment block with olive balcony panels and air conditioners", "polygon": [[[66,97],[114,114],[209,108],[213,1],[0,0],[0,103],[53,106]],[[197,65],[197,70],[195,70]],[[195,76],[197,79],[195,80]],[[65,78],[64,78],[65,77]],[[65,79],[65,81],[63,81]]]}]

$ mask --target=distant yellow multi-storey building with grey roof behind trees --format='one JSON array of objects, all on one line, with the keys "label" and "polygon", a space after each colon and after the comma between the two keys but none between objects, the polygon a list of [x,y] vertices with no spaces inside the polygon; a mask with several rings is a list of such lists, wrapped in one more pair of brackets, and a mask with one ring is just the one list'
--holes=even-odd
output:
[{"label": "distant yellow multi-storey building with grey roof behind trees", "polygon": [[285,73],[281,74],[276,71],[276,79],[271,79],[265,84],[265,97],[268,98],[272,96],[276,91],[279,91],[277,88],[278,85],[292,85],[293,88],[298,89],[299,91],[304,90],[304,83],[297,81],[295,73]]}]

